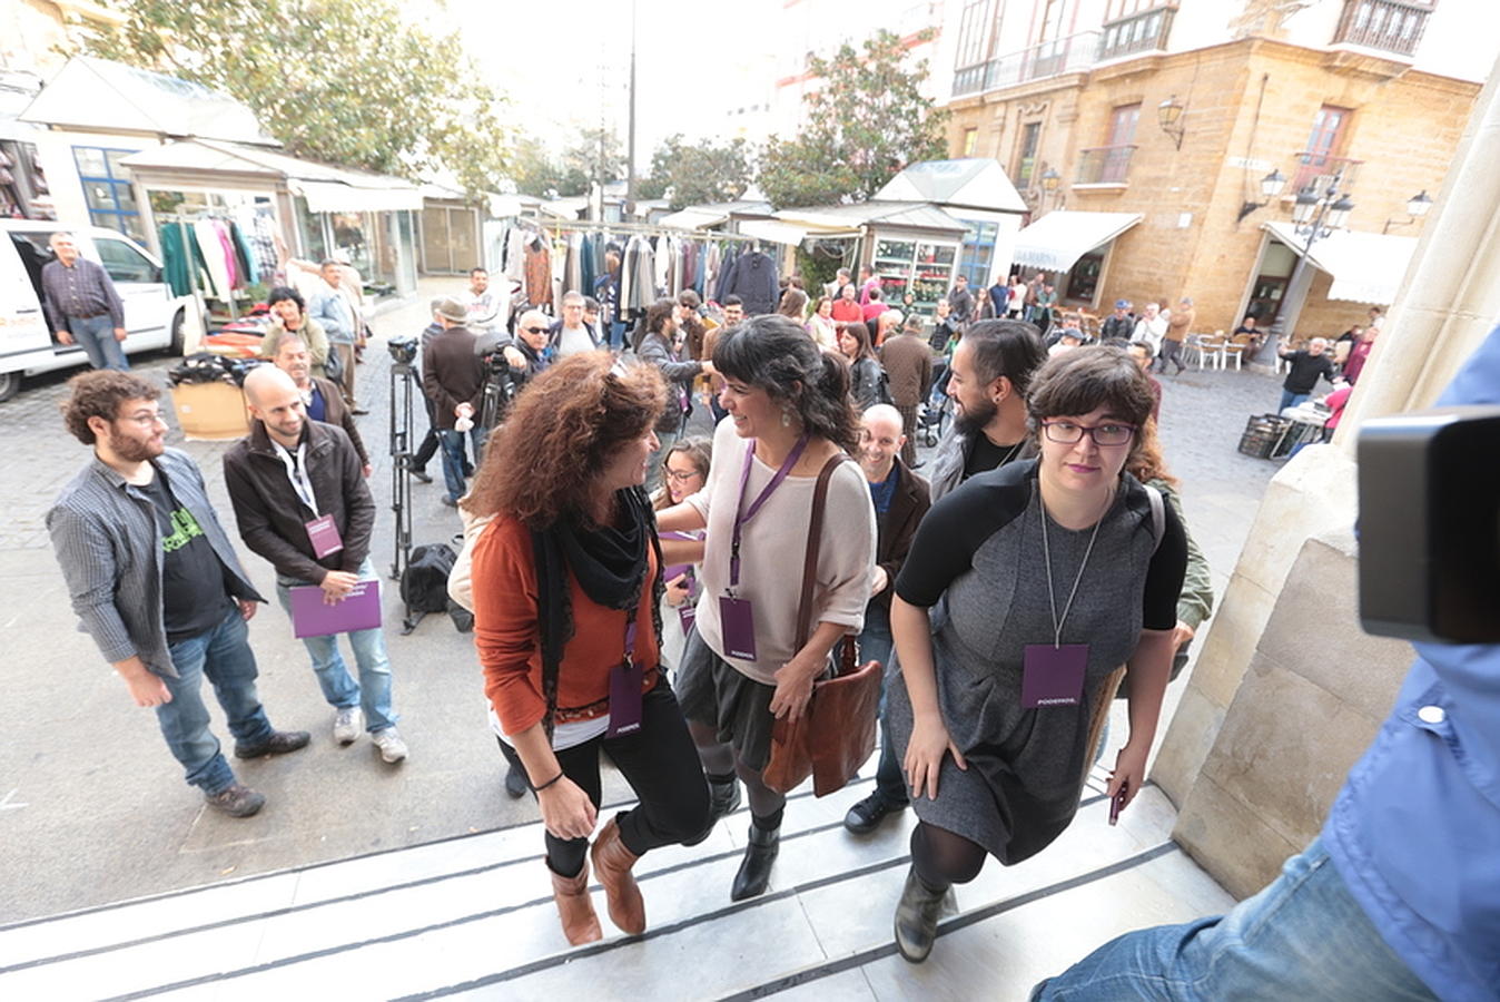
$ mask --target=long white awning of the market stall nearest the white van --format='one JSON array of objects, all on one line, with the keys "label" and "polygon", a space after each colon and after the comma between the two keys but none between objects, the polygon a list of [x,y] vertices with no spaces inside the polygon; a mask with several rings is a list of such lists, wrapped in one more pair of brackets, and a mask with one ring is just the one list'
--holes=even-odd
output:
[{"label": "long white awning of the market stall nearest the white van", "polygon": [[171,174],[236,174],[279,180],[291,194],[304,196],[310,212],[422,210],[422,189],[399,177],[303,160],[279,150],[240,142],[183,140],[132,153],[122,164],[132,172],[148,174],[153,184]]}]

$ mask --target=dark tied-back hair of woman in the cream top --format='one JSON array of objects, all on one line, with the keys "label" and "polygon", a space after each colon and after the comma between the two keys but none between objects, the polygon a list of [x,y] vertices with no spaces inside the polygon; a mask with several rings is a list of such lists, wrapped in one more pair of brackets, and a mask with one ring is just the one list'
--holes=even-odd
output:
[{"label": "dark tied-back hair of woman in the cream top", "polygon": [[730,327],[714,345],[714,368],[789,405],[810,435],[850,453],[858,447],[860,416],[849,398],[848,363],[819,351],[789,316],[765,314]]}]

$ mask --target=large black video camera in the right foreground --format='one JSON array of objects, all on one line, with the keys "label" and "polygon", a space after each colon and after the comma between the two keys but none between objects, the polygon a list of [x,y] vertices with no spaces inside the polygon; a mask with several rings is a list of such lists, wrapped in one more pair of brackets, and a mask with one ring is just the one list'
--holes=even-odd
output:
[{"label": "large black video camera in the right foreground", "polygon": [[1359,618],[1377,636],[1500,644],[1500,406],[1360,426]]}]

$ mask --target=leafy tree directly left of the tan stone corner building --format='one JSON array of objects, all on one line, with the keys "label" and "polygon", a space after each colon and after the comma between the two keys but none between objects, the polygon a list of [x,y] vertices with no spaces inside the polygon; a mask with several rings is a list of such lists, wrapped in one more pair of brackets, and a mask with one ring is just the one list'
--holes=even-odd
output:
[{"label": "leafy tree directly left of the tan stone corner building", "polygon": [[[933,38],[932,30],[918,36]],[[906,46],[890,32],[844,44],[831,58],[812,57],[818,80],[792,140],[772,136],[758,183],[777,208],[862,201],[909,164],[946,154],[948,112],[922,96],[927,62],[908,68]]]}]

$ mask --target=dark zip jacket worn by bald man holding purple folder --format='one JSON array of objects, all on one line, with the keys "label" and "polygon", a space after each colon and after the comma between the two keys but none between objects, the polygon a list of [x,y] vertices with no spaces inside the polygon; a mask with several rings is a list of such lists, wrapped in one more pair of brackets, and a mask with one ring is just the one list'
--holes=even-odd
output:
[{"label": "dark zip jacket worn by bald man holding purple folder", "polygon": [[[354,573],[370,552],[375,528],[375,498],[364,483],[360,456],[342,428],[308,422],[308,478],[318,512],[297,495],[286,464],[276,453],[262,422],[224,454],[224,483],[234,504],[240,538],[268,560],[282,578],[321,585],[330,570]],[[308,522],[332,514],[344,549],[316,560],[308,538]]]}]

